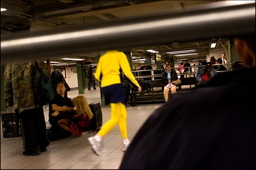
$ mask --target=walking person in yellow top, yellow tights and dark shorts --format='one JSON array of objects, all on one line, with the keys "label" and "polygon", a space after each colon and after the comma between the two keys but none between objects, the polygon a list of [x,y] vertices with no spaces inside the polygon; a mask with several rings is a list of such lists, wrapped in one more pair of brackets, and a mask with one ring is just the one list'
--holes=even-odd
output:
[{"label": "walking person in yellow top, yellow tights and dark shorts", "polygon": [[123,151],[125,152],[130,145],[130,141],[127,138],[127,112],[123,105],[125,90],[121,84],[121,71],[124,72],[130,83],[138,88],[138,92],[141,92],[141,87],[132,74],[129,62],[124,53],[113,50],[107,51],[100,57],[95,78],[101,81],[105,104],[110,104],[111,116],[94,137],[88,138],[88,142],[97,155],[101,154],[101,139],[117,124],[119,124],[120,133],[123,137]]}]

